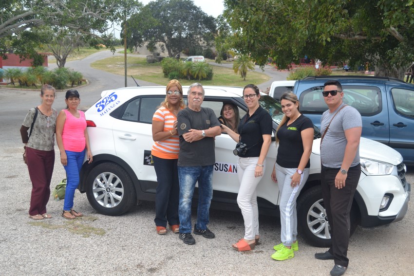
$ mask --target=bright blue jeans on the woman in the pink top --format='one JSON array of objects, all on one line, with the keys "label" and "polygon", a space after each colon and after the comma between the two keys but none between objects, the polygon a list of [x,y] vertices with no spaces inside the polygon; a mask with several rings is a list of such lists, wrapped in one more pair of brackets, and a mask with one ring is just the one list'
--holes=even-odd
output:
[{"label": "bright blue jeans on the woman in the pink top", "polygon": [[68,164],[66,170],[66,191],[63,210],[69,211],[74,206],[75,190],[79,185],[79,173],[85,159],[85,149],[80,152],[65,150]]}]

